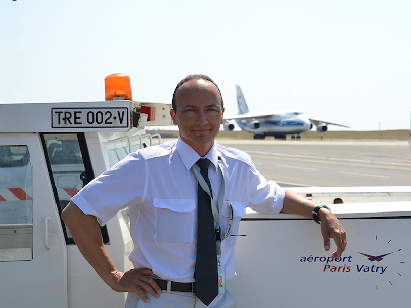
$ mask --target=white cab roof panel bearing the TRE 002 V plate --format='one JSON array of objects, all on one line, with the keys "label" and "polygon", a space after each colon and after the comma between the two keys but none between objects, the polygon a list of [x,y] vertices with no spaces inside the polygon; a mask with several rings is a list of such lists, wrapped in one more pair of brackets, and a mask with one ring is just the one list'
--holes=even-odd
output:
[{"label": "white cab roof panel bearing the TRE 002 V plate", "polygon": [[132,101],[1,104],[0,131],[128,131],[132,111]]}]

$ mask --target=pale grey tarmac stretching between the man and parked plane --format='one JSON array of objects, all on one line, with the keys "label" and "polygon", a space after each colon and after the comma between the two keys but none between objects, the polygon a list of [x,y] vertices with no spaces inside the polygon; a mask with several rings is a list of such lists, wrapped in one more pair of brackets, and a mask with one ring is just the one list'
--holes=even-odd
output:
[{"label": "pale grey tarmac stretching between the man and parked plane", "polygon": [[216,142],[247,152],[267,180],[283,187],[411,186],[407,141],[217,138]]}]

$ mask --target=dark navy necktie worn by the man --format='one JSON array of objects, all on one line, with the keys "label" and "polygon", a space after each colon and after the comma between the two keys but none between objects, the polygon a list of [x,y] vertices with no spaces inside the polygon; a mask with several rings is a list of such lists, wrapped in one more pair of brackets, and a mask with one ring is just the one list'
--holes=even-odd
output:
[{"label": "dark navy necktie worn by the man", "polygon": [[[210,161],[200,158],[197,165],[211,192],[208,177]],[[211,212],[210,196],[198,183],[198,236],[197,261],[194,272],[196,296],[208,306],[218,294],[217,251],[215,246],[214,219]]]}]

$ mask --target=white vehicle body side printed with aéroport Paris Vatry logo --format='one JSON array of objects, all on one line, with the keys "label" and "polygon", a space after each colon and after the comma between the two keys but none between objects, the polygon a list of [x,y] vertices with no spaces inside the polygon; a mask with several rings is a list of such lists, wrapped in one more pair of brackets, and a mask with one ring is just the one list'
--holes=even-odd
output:
[{"label": "white vehicle body side printed with a\u00e9roport Paris Vatry logo", "polygon": [[238,308],[409,304],[411,201],[328,206],[348,235],[337,260],[335,243],[325,251],[312,220],[255,214],[241,221],[238,276],[227,282]]}]

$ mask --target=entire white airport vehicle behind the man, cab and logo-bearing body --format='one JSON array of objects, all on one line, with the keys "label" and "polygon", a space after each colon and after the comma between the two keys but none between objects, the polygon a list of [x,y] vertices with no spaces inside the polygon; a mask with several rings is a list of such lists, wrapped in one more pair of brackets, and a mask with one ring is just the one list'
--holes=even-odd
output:
[{"label": "entire white airport vehicle behind the man, cab and logo-bearing body", "polygon": [[[169,110],[169,104],[130,99],[0,104],[1,306],[124,306],[126,294],[95,273],[60,213],[95,175],[155,138],[161,143],[144,127],[171,125]],[[240,235],[238,276],[227,288],[239,308],[409,303],[411,187],[293,190],[343,220],[347,250],[330,260],[312,220],[248,211],[232,228]],[[120,271],[132,268],[129,227],[124,209],[102,228]]]}]

